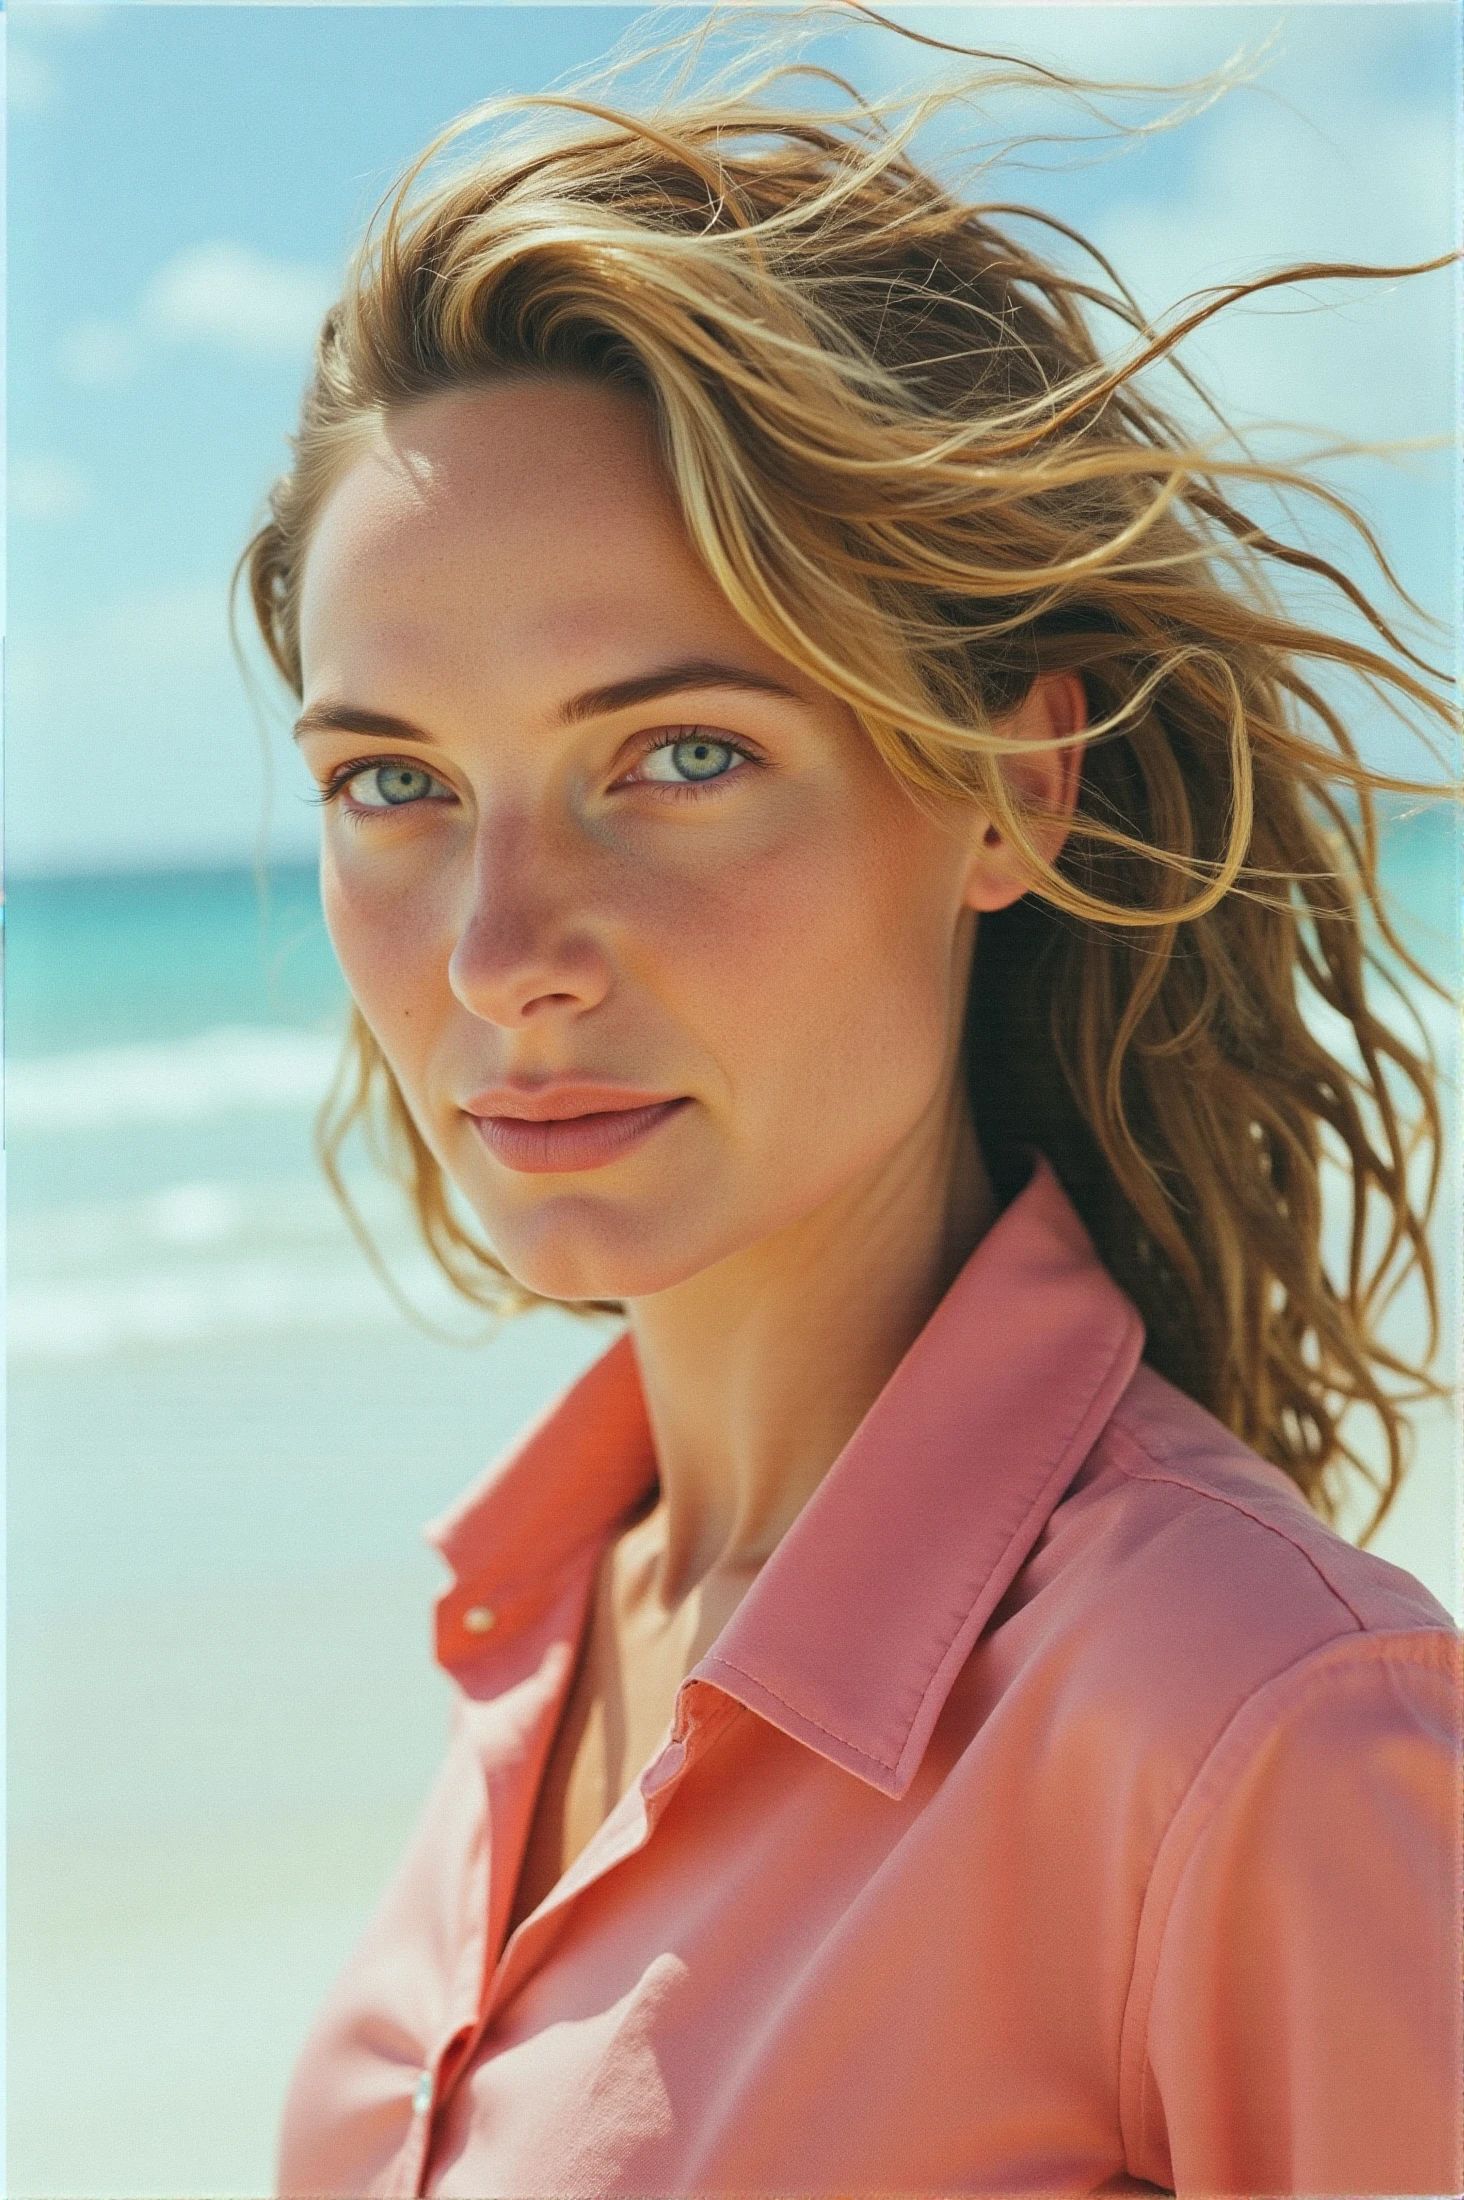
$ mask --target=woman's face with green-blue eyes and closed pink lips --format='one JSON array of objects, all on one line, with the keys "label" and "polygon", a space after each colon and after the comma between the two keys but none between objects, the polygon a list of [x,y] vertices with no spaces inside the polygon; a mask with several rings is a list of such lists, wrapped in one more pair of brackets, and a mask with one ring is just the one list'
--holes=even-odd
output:
[{"label": "woman's face with green-blue eyes and closed pink lips", "polygon": [[319,517],[302,660],[330,937],[524,1285],[667,1289],[929,1146],[971,814],[735,616],[634,398],[394,414]]}]

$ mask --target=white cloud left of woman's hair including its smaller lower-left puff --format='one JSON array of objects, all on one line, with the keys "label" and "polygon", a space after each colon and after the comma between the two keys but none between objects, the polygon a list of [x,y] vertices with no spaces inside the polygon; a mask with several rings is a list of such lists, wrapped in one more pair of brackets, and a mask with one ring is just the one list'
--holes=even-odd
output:
[{"label": "white cloud left of woman's hair including its smaller lower-left puff", "polygon": [[152,275],[130,319],[66,330],[57,365],[81,389],[130,381],[150,350],[211,343],[242,359],[308,359],[337,284],[326,268],[271,260],[253,244],[189,244]]}]

